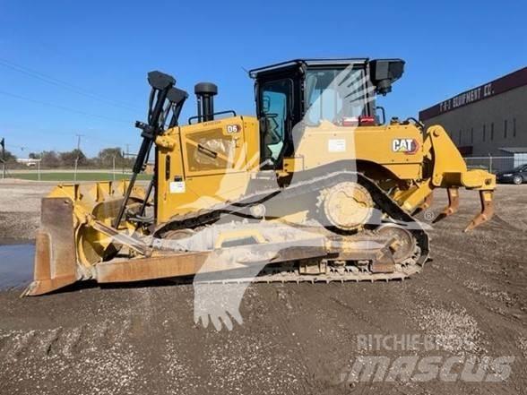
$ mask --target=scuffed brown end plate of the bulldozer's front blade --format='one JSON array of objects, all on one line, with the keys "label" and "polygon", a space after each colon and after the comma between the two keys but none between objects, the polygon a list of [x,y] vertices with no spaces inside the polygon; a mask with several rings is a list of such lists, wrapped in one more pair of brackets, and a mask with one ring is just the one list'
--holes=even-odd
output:
[{"label": "scuffed brown end plate of the bulldozer's front blade", "polygon": [[73,202],[68,198],[42,199],[35,249],[34,280],[22,296],[37,296],[77,280],[73,231]]}]

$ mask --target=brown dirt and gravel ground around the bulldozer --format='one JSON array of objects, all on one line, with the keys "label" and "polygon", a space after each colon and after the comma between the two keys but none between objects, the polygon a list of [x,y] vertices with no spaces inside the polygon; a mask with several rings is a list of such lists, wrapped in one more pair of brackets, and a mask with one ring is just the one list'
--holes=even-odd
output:
[{"label": "brown dirt and gravel ground around the bulldozer", "polygon": [[[30,238],[49,185],[0,185],[0,238]],[[445,196],[436,193],[436,212]],[[233,331],[194,323],[192,284],[0,292],[2,394],[527,393],[527,185],[500,185],[497,215],[436,224],[432,260],[390,283],[255,284]],[[428,335],[440,350],[359,349],[364,335]],[[453,341],[462,340],[462,341]],[[504,382],[342,382],[361,355],[514,356]],[[344,376],[345,377],[345,376]]]}]

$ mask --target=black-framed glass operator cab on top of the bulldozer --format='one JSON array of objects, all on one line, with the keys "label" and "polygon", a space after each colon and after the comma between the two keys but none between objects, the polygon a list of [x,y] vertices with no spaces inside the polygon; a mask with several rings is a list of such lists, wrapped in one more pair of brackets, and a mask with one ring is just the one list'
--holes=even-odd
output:
[{"label": "black-framed glass operator cab on top of the bulldozer", "polygon": [[251,70],[260,122],[260,164],[279,168],[305,126],[376,125],[376,94],[401,78],[401,59],[303,59]]}]

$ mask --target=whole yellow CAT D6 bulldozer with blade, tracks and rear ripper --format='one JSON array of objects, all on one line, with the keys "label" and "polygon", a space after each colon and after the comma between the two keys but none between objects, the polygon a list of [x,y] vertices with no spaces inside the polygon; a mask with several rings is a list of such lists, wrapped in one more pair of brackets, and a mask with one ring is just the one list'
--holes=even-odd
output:
[{"label": "whole yellow CAT D6 bulldozer with blade, tracks and rear ripper", "polygon": [[[467,169],[438,125],[387,121],[378,95],[401,59],[302,59],[249,72],[256,116],[214,110],[218,88],[195,85],[197,114],[168,74],[151,72],[143,142],[128,181],[58,185],[42,200],[36,296],[99,283],[404,279],[428,259],[415,213],[444,188],[477,191],[493,214],[495,176]],[[150,183],[137,181],[154,155]],[[220,276],[219,276],[220,273]],[[209,277],[207,277],[209,276]]]}]

